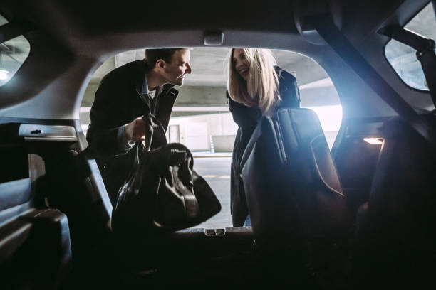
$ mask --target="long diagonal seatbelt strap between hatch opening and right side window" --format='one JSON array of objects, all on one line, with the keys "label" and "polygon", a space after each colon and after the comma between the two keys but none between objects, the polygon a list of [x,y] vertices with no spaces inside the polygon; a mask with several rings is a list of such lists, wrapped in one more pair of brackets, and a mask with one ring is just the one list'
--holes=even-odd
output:
[{"label": "long diagonal seatbelt strap between hatch opening and right side window", "polygon": [[330,14],[310,16],[307,19],[326,43],[376,92],[405,119],[422,137],[436,146],[436,134],[427,119],[420,117],[410,105],[363,58],[333,23]]}]

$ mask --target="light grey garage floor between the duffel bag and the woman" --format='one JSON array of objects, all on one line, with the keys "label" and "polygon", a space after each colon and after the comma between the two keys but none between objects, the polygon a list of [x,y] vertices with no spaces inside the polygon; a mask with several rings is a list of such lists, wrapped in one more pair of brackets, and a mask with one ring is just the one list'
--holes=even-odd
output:
[{"label": "light grey garage floor between the duffel bag and the woman", "polygon": [[194,157],[194,170],[199,173],[221,203],[221,212],[196,227],[232,227],[230,215],[230,164],[231,157]]}]

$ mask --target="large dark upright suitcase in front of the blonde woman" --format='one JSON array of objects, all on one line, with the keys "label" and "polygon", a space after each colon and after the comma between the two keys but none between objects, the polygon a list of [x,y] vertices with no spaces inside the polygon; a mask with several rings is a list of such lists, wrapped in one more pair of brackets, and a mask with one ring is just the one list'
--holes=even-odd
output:
[{"label": "large dark upright suitcase in front of the blonde woman", "polygon": [[310,109],[280,109],[275,117],[263,117],[241,166],[256,242],[286,244],[347,232],[341,182]]}]

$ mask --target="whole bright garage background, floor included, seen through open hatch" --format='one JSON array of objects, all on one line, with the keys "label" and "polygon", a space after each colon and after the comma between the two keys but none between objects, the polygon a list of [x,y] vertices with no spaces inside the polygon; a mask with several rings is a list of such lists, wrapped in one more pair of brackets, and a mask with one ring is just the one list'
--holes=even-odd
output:
[{"label": "whole bright garage background, floor included, seen through open hatch", "polygon": [[[286,50],[272,50],[277,65],[296,77],[301,107],[312,109],[320,119],[331,148],[342,121],[342,107],[333,82],[311,58]],[[120,53],[103,63],[91,77],[81,104],[80,119],[86,134],[90,109],[100,81],[111,70],[142,60],[144,50]],[[237,124],[227,104],[229,48],[192,48],[187,75],[172,109],[167,140],[182,143],[194,156],[194,169],[202,175],[222,203],[222,211],[197,227],[231,227],[230,167]],[[321,97],[320,97],[321,96]]]}]

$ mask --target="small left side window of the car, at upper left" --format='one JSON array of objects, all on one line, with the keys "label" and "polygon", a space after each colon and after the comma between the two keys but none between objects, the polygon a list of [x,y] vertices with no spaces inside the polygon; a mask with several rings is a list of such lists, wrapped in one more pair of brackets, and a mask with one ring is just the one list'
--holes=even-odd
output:
[{"label": "small left side window of the car, at upper left", "polygon": [[[0,15],[0,26],[8,21]],[[14,77],[30,52],[30,43],[24,36],[17,36],[0,43],[0,87]]]}]

